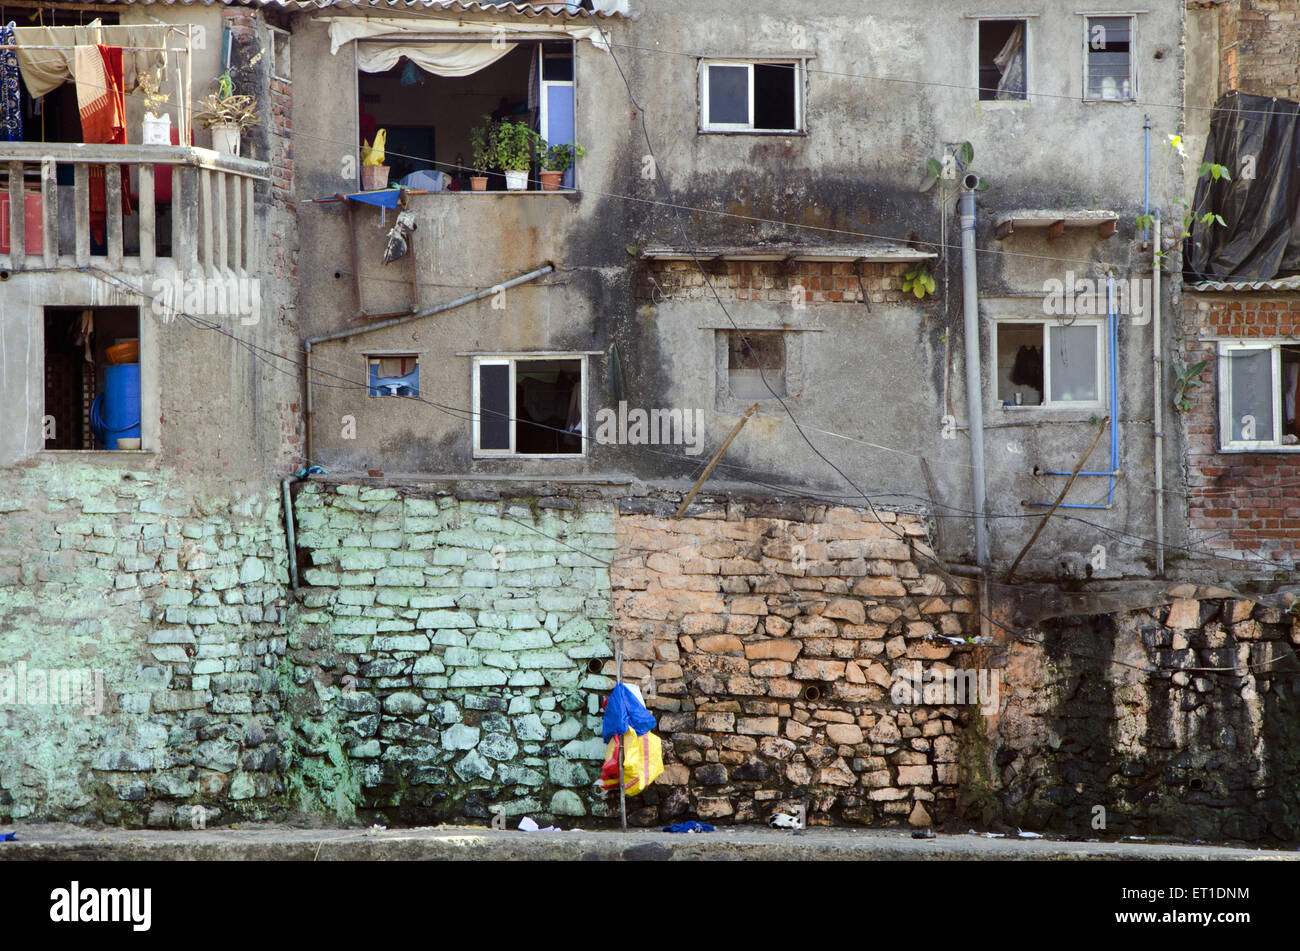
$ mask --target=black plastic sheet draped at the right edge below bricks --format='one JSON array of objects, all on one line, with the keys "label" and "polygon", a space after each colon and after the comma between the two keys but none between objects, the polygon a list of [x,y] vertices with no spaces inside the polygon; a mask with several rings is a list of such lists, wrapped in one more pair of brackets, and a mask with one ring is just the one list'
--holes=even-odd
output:
[{"label": "black plastic sheet draped at the right edge below bricks", "polygon": [[[1204,161],[1226,166],[1231,181],[1206,174],[1196,184],[1184,279],[1271,281],[1300,272],[1300,103],[1228,92],[1210,120]],[[1223,225],[1202,223],[1206,212]]]}]

